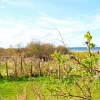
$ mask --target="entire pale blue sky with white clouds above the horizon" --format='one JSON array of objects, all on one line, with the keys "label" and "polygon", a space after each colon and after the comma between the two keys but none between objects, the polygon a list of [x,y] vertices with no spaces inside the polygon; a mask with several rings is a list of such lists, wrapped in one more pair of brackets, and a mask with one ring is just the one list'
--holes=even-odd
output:
[{"label": "entire pale blue sky with white clouds above the horizon", "polygon": [[100,47],[100,0],[0,0],[0,47],[40,41],[85,46],[89,31]]}]

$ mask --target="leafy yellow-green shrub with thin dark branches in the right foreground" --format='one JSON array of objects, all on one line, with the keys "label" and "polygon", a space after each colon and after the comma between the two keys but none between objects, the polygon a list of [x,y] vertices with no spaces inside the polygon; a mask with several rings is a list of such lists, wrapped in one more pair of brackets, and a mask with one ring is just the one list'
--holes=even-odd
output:
[{"label": "leafy yellow-green shrub with thin dark branches in the right foreground", "polygon": [[[87,39],[86,45],[88,52],[84,55],[84,58],[80,59],[71,54],[71,60],[73,65],[70,65],[66,70],[66,78],[62,79],[65,85],[65,91],[60,89],[54,89],[54,94],[57,96],[65,96],[67,98],[73,98],[74,100],[92,100],[93,97],[93,84],[96,83],[97,79],[95,76],[95,69],[98,63],[98,55],[92,54],[90,51],[91,47],[95,47],[92,41],[92,36],[87,32],[84,37]],[[73,57],[72,57],[73,55]],[[55,52],[53,55],[58,63],[62,61],[62,55]],[[73,58],[73,59],[72,59]],[[75,92],[76,89],[76,92]],[[97,87],[95,87],[97,89]],[[61,92],[62,91],[62,92]],[[60,93],[60,94],[59,94]]]}]

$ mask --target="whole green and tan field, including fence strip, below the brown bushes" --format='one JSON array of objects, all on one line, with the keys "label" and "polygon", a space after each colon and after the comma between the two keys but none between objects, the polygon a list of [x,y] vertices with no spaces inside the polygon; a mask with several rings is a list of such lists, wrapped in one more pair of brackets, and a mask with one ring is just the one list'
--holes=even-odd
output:
[{"label": "whole green and tan field, including fence strip, below the brown bushes", "polygon": [[[75,52],[74,55],[83,60],[85,53]],[[79,68],[81,65],[73,59],[67,60],[68,57],[61,56],[60,59],[65,60],[61,65],[57,59],[47,62],[33,58],[1,60],[0,100],[99,100],[99,73],[83,74],[84,69],[81,72],[82,68]]]}]

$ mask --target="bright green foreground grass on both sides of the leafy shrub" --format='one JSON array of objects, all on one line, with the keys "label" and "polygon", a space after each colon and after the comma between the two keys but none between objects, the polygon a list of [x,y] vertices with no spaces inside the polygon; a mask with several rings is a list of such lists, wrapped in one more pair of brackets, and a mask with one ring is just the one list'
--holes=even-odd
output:
[{"label": "bright green foreground grass on both sides of the leafy shrub", "polygon": [[[0,80],[0,100],[72,100],[53,96],[53,90],[63,89],[65,82],[53,77],[19,78],[17,80]],[[100,98],[100,80],[93,84],[93,100]],[[50,89],[50,90],[48,90]],[[76,92],[74,88],[73,92]],[[74,99],[77,100],[77,99]]]}]

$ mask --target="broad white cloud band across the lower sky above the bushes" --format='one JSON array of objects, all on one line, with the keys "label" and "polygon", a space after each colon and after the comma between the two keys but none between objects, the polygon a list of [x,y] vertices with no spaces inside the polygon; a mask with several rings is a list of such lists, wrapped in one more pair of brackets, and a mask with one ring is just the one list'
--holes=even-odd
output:
[{"label": "broad white cloud band across the lower sky above the bushes", "polygon": [[[50,42],[55,45],[62,44],[57,29],[61,32],[68,46],[84,46],[83,34],[90,30],[99,30],[99,15],[92,17],[90,21],[75,18],[58,19],[39,12],[33,19],[30,16],[22,16],[20,19],[10,17],[0,18],[0,46],[9,47],[18,43],[27,44],[31,40]],[[98,35],[100,37],[100,35]],[[99,45],[99,38],[94,42]]]}]

